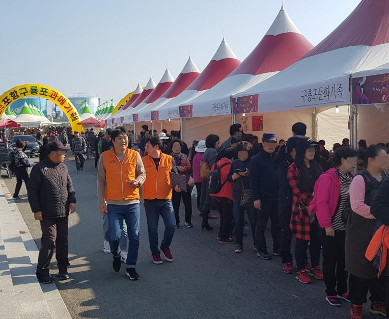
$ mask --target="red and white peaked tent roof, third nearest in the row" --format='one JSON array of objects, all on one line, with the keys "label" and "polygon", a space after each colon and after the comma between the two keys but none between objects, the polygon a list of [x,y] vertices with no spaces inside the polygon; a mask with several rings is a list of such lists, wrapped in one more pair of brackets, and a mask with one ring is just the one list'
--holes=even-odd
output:
[{"label": "red and white peaked tent roof, third nearest in the row", "polygon": [[[158,118],[160,120],[173,119],[178,117],[184,117],[181,114],[179,107],[186,102],[204,94],[207,90],[215,86],[228,74],[230,74],[238,65],[240,61],[236,58],[234,52],[230,46],[223,39],[221,41],[215,55],[205,67],[203,72],[193,81],[193,83],[180,93],[177,97],[165,103],[158,110]],[[190,108],[188,113],[190,113]],[[155,111],[156,111],[155,110]],[[186,110],[183,112],[186,113]],[[219,112],[219,114],[228,114],[229,110]]]}]

